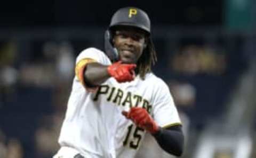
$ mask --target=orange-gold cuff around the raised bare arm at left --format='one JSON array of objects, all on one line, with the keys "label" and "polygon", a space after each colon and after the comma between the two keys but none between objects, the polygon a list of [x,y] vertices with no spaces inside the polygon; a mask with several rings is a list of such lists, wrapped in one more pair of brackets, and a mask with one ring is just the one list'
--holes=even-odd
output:
[{"label": "orange-gold cuff around the raised bare arm at left", "polygon": [[89,88],[86,86],[85,82],[84,82],[84,69],[86,68],[86,65],[89,63],[96,63],[97,61],[92,59],[92,58],[84,58],[82,60],[80,60],[75,67],[75,73],[76,73],[76,77],[78,78],[79,82],[82,83],[82,85],[89,91],[91,92],[95,92],[95,88]]}]

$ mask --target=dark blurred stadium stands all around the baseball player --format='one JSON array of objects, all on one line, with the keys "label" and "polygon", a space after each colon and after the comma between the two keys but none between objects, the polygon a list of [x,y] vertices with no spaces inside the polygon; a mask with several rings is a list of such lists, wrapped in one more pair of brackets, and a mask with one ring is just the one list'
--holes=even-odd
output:
[{"label": "dark blurred stadium stands all around the baseball player", "polygon": [[[57,139],[75,57],[103,50],[120,7],[151,19],[158,63],[186,134],[186,158],[255,153],[256,1],[4,1],[0,5],[0,157],[46,158]],[[137,157],[171,157],[148,136]]]}]

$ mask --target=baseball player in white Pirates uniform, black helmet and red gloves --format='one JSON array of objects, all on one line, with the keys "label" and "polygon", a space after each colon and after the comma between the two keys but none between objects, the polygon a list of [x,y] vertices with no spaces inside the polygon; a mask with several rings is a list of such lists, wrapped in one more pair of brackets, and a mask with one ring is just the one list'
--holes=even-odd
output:
[{"label": "baseball player in white Pirates uniform, black helmet and red gloves", "polygon": [[105,33],[105,52],[87,48],[76,58],[54,158],[134,157],[146,132],[180,156],[181,121],[167,85],[151,72],[155,62],[148,15],[119,9]]}]

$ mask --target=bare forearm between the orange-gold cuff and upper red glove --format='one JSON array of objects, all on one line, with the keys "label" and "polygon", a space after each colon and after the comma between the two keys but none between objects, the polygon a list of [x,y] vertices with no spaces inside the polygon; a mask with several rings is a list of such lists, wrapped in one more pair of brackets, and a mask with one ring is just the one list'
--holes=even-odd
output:
[{"label": "bare forearm between the orange-gold cuff and upper red glove", "polygon": [[84,80],[87,85],[100,85],[109,77],[106,65],[99,63],[90,63],[86,66],[84,71]]}]

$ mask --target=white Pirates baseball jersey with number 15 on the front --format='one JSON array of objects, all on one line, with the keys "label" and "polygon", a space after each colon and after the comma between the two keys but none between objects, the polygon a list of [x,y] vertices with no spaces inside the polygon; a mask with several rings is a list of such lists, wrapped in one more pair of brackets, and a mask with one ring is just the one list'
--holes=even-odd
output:
[{"label": "white Pirates baseball jersey with number 15 on the front", "polygon": [[[96,48],[82,51],[76,63],[84,59],[111,64]],[[125,83],[110,77],[95,92],[85,88],[75,76],[60,145],[73,147],[86,157],[134,157],[146,131],[121,112],[135,106],[145,108],[161,127],[181,124],[169,88],[153,73],[148,73],[145,80],[137,76]]]}]

